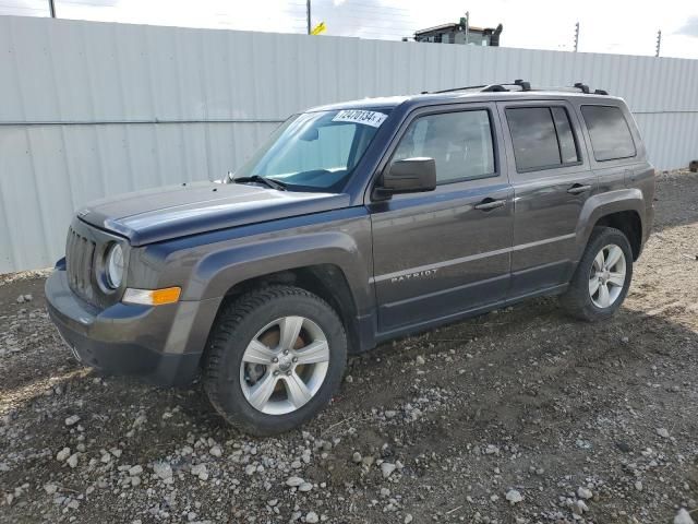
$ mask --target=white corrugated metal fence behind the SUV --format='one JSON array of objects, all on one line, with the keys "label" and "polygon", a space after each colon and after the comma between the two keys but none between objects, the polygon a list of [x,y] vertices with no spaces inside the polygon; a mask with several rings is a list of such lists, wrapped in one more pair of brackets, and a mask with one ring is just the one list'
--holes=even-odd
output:
[{"label": "white corrugated metal fence behind the SUV", "polygon": [[220,178],[288,115],[527,79],[626,98],[659,168],[698,156],[698,61],[0,16],[0,273],[106,195]]}]

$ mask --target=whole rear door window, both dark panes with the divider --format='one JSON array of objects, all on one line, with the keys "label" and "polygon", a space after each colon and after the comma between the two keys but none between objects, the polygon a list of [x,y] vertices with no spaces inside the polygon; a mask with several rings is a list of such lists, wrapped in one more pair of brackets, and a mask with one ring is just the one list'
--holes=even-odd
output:
[{"label": "whole rear door window, both dark panes with the divider", "polygon": [[564,107],[516,107],[506,110],[518,171],[579,163],[577,142]]}]

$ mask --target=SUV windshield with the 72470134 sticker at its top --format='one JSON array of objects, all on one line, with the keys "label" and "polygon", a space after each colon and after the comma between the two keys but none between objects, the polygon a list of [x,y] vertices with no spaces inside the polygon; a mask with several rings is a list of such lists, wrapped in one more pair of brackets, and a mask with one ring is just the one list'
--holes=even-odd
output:
[{"label": "SUV windshield with the 72470134 sticker at its top", "polygon": [[351,175],[388,112],[351,109],[291,117],[236,171],[233,180],[260,176],[289,189],[337,189]]}]

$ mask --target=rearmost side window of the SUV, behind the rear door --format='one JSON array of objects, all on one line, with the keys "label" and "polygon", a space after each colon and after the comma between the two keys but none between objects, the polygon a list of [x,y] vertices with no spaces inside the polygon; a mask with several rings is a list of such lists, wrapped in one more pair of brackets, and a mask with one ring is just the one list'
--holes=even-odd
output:
[{"label": "rearmost side window of the SUV, behind the rear door", "polygon": [[581,106],[593,157],[599,162],[629,158],[636,155],[628,122],[615,106]]}]

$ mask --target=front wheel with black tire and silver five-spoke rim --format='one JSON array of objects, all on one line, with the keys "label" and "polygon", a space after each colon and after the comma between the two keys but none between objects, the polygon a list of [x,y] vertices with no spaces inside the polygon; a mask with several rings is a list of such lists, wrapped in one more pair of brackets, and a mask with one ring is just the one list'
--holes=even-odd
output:
[{"label": "front wheel with black tire and silver five-spoke rim", "polygon": [[338,389],[347,360],[339,317],[298,287],[269,286],[226,306],[204,361],[204,389],[232,426],[256,436],[313,418]]}]

